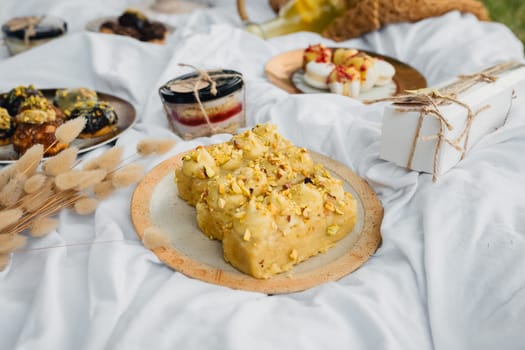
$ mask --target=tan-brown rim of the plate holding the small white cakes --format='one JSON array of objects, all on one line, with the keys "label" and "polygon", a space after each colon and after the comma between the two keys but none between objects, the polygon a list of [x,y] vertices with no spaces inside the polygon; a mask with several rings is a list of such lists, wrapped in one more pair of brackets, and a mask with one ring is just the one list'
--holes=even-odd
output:
[{"label": "tan-brown rim of the plate holding the small white cakes", "polygon": [[[394,75],[394,82],[396,83],[396,93],[404,92],[405,90],[417,90],[427,87],[425,77],[415,68],[408,64],[401,62],[395,58],[381,55],[375,52],[366,50],[359,50],[370,56],[384,59],[394,66],[396,73]],[[283,52],[270,59],[265,66],[264,72],[268,80],[275,86],[293,94],[304,93],[293,82],[293,75],[302,70],[304,49],[296,49]],[[312,88],[312,90],[315,90]],[[328,91],[319,90],[319,93],[330,93]]]}]

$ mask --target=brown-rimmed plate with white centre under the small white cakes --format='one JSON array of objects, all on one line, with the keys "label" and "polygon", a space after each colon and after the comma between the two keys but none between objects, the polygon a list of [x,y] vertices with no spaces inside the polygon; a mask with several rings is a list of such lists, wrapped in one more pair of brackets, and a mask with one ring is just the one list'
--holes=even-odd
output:
[{"label": "brown-rimmed plate with white centre under the small white cakes", "polygon": [[[406,63],[377,53],[360,51],[389,62],[396,69],[396,73],[391,84],[377,86],[369,91],[362,92],[358,99],[385,98],[405,90],[415,90],[427,86],[425,77]],[[330,93],[328,90],[316,89],[304,83],[303,52],[303,49],[298,49],[275,56],[266,64],[266,76],[274,85],[290,93]]]}]

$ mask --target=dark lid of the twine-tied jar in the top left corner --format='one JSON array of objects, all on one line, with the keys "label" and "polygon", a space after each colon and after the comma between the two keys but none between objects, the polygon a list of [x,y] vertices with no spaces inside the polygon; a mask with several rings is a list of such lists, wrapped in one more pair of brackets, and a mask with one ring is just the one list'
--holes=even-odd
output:
[{"label": "dark lid of the twine-tied jar in the top left corner", "polygon": [[8,37],[24,40],[26,31],[29,39],[55,38],[67,31],[67,23],[53,16],[15,17],[4,23],[2,31]]}]

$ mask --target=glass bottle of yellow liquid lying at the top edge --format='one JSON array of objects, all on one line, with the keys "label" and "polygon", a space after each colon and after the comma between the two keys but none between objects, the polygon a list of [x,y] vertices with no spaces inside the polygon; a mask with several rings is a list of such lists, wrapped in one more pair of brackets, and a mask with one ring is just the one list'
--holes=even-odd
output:
[{"label": "glass bottle of yellow liquid lying at the top edge", "polygon": [[264,39],[299,31],[321,33],[344,11],[344,0],[290,0],[276,18],[248,23],[245,29]]}]

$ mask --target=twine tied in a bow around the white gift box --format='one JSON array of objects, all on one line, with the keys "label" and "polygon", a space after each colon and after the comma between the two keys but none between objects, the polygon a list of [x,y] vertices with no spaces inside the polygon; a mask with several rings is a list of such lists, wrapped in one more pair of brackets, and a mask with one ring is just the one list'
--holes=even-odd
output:
[{"label": "twine tied in a bow around the white gift box", "polygon": [[[399,110],[410,111],[414,108],[419,110],[419,118],[417,122],[416,132],[410,148],[410,153],[406,167],[412,168],[412,161],[416,152],[418,141],[436,141],[436,148],[434,151],[433,160],[433,171],[432,181],[437,181],[437,174],[439,173],[439,154],[443,143],[448,143],[457,151],[461,152],[461,159],[465,156],[465,152],[468,148],[469,135],[472,123],[477,115],[482,111],[490,108],[490,105],[484,105],[476,111],[473,111],[471,106],[461,101],[458,97],[462,92],[467,91],[471,87],[481,82],[494,83],[498,80],[498,74],[507,72],[513,69],[523,67],[522,63],[516,61],[504,62],[493,67],[487,68],[479,73],[471,75],[460,75],[458,80],[451,84],[448,84],[439,89],[419,89],[419,90],[407,90],[405,94],[387,97],[382,99],[366,101],[366,103],[375,103],[382,101],[391,101],[395,105],[400,106]],[[515,97],[514,91],[512,97]],[[467,117],[463,129],[457,137],[450,139],[446,136],[446,130],[454,130],[453,123],[451,123],[440,111],[440,106],[455,104],[464,108],[467,112]],[[407,107],[406,109],[402,108]],[[510,109],[509,109],[510,112]],[[439,120],[439,131],[436,135],[420,136],[421,128],[423,126],[423,118],[425,116],[432,116]]]}]

